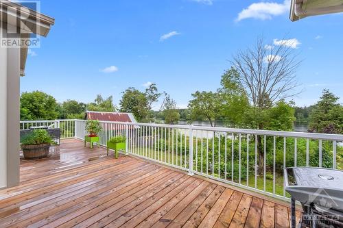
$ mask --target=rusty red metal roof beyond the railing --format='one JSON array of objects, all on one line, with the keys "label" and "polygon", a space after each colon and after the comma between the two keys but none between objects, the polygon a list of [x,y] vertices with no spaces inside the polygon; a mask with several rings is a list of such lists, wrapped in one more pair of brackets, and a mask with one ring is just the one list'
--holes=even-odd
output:
[{"label": "rusty red metal roof beyond the railing", "polygon": [[87,120],[136,123],[132,113],[124,112],[86,112]]}]

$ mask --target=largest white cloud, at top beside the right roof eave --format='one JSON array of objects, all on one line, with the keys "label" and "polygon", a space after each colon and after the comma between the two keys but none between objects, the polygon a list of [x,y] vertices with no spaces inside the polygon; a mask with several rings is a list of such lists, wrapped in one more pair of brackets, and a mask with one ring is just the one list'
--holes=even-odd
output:
[{"label": "largest white cloud, at top beside the right roof eave", "polygon": [[290,0],[285,0],[283,3],[265,2],[252,3],[241,12],[239,12],[235,21],[241,21],[247,18],[255,18],[259,20],[270,20],[273,16],[279,16],[289,12]]}]

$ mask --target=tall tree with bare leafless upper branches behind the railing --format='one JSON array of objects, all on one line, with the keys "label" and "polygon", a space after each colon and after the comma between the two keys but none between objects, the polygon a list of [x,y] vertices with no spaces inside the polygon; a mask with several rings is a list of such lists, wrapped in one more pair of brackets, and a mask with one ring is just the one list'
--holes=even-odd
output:
[{"label": "tall tree with bare leafless upper branches behind the railing", "polygon": [[[296,60],[293,45],[289,40],[281,40],[280,45],[266,45],[263,39],[257,40],[253,49],[239,51],[230,61],[239,72],[239,82],[246,89],[252,104],[252,119],[257,129],[265,129],[265,110],[279,101],[298,94],[296,88]],[[265,48],[271,47],[271,48]],[[263,173],[263,145],[257,136],[259,152],[259,173]]]}]

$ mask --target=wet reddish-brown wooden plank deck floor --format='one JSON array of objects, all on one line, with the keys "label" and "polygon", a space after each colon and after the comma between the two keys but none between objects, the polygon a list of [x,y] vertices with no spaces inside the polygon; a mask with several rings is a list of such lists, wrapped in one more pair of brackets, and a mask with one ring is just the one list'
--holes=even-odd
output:
[{"label": "wet reddish-brown wooden plank deck floor", "polygon": [[[0,191],[0,227],[289,227],[289,208],[134,157],[63,140],[21,160],[21,185]],[[299,213],[298,213],[299,215]]]}]

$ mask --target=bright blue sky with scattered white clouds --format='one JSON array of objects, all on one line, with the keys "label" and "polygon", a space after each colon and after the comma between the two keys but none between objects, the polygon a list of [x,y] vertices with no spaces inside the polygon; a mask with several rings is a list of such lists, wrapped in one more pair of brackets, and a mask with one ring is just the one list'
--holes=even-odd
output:
[{"label": "bright blue sky with scattered white clouds", "polygon": [[[289,1],[116,0],[40,2],[56,19],[31,49],[21,92],[42,90],[58,101],[85,103],[151,82],[187,107],[196,90],[216,90],[239,49],[263,36],[296,39],[304,90],[297,105],[318,101],[323,88],[343,98],[343,14],[289,21]],[[343,99],[340,100],[343,102]],[[155,107],[156,108],[156,107]]]}]

